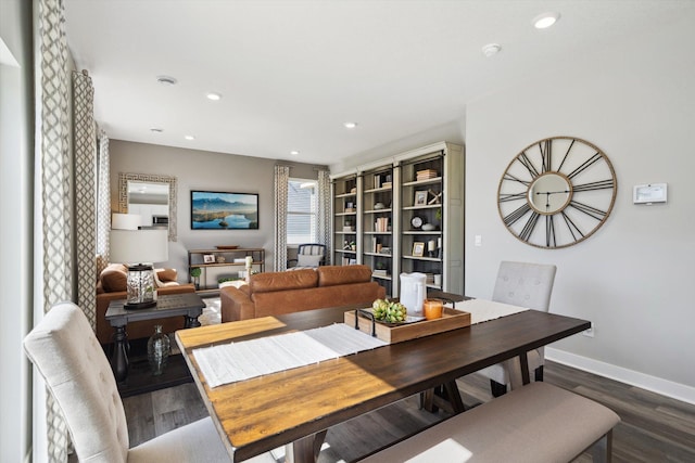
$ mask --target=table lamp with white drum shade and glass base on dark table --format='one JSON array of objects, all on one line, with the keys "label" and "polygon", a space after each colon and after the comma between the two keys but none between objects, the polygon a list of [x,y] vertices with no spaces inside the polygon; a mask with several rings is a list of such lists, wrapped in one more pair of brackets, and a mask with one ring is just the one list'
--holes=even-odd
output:
[{"label": "table lamp with white drum shade and glass base on dark table", "polygon": [[125,309],[156,306],[153,262],[168,260],[167,231],[111,230],[111,261],[128,267],[128,296]]}]

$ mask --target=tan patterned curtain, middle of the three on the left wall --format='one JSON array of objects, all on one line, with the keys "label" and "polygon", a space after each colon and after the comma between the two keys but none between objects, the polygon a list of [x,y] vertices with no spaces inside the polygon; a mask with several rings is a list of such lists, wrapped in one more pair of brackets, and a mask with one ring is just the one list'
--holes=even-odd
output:
[{"label": "tan patterned curtain, middle of the three on the left wall", "polygon": [[86,70],[73,73],[73,140],[75,151],[75,247],[77,305],[97,329],[97,133],[94,88]]}]

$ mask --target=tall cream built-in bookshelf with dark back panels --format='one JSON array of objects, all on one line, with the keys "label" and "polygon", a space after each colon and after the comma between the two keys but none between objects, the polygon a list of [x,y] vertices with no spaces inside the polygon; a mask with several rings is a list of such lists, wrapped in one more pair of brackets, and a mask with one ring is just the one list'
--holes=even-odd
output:
[{"label": "tall cream built-in bookshelf with dark back panels", "polygon": [[399,296],[402,272],[463,294],[463,146],[440,142],[331,179],[334,265],[371,267],[390,297]]}]

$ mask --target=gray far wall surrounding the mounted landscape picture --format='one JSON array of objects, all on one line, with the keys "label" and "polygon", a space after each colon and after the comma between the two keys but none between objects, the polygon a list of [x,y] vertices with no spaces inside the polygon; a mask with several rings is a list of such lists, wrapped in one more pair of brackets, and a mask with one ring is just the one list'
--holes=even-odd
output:
[{"label": "gray far wall surrounding the mounted landscape picture", "polygon": [[[97,91],[99,91],[97,89]],[[275,159],[185,150],[155,144],[110,141],[111,209],[118,210],[118,172],[151,173],[177,178],[178,241],[169,243],[166,267],[178,270],[179,282],[188,281],[188,249],[236,244],[266,249],[266,271],[273,270],[275,218],[273,177]],[[316,179],[315,166],[289,164],[290,176]],[[191,230],[191,190],[258,193],[258,230]]]}]

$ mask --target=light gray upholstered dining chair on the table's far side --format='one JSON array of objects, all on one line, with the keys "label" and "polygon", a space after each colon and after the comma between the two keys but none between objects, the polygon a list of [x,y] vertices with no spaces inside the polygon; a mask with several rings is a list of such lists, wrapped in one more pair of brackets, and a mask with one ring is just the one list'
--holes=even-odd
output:
[{"label": "light gray upholstered dining chair on the table's far side", "polygon": [[[556,271],[557,267],[553,265],[502,261],[492,300],[547,312]],[[542,381],[544,349],[541,347],[527,352],[527,356],[529,373],[534,372],[535,381]],[[519,359],[515,358],[488,366],[478,373],[490,380],[492,395],[500,397],[507,391],[507,385],[513,386],[520,382],[521,366]]]}]

